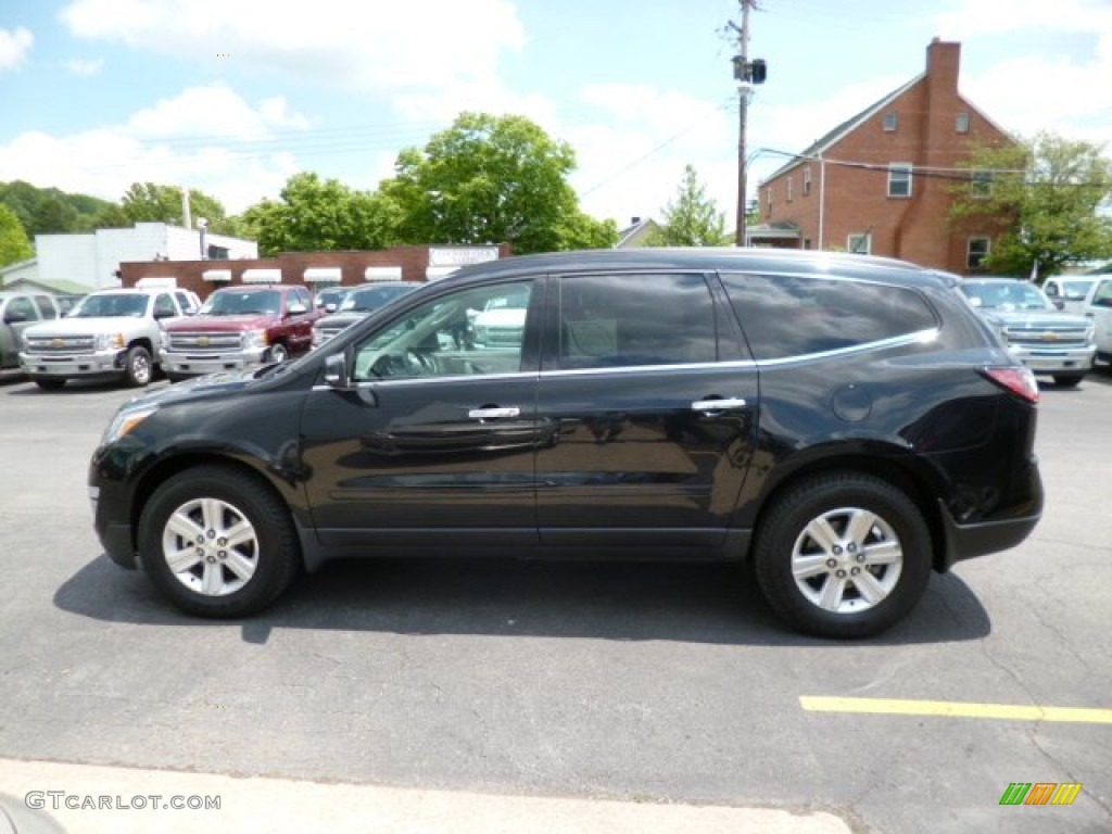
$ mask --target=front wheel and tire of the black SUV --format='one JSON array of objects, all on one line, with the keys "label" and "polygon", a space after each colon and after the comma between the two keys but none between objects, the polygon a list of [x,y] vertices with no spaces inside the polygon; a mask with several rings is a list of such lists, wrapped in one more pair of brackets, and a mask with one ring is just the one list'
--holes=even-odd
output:
[{"label": "front wheel and tire of the black SUV", "polygon": [[[250,527],[241,542],[221,537],[242,522]],[[180,533],[190,524],[196,540]],[[175,552],[185,559],[171,567]],[[187,469],[155,490],[139,519],[139,557],[175,605],[202,617],[262,610],[289,586],[301,563],[288,508],[265,481],[227,466]]]}]

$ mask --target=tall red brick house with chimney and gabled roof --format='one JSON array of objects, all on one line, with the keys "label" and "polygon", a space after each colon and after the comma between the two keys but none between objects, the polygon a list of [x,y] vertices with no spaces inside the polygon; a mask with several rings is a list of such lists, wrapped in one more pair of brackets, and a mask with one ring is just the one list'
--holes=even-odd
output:
[{"label": "tall red brick house with chimney and gabled roof", "polygon": [[[841,249],[977,272],[1006,218],[950,219],[971,149],[1013,140],[957,91],[961,43],[761,182],[753,246]],[[991,187],[987,181],[986,187]]]}]

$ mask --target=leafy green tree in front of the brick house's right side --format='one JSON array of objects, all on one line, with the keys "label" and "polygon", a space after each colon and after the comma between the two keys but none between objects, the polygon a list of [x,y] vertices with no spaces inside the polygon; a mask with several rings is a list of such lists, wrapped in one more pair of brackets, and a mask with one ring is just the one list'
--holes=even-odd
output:
[{"label": "leafy green tree in front of the brick house's right side", "polygon": [[1002,218],[987,269],[1041,277],[1070,264],[1112,257],[1112,160],[1104,146],[1042,132],[1010,147],[979,148],[971,180],[955,188],[952,218]]}]

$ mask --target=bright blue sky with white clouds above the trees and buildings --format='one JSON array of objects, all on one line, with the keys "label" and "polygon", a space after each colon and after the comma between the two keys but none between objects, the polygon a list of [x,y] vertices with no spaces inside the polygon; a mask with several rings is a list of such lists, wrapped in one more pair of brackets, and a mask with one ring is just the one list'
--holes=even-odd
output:
[{"label": "bright blue sky with white clouds above the trees and buildings", "polygon": [[[0,181],[119,200],[188,186],[238,214],[315,171],[360,189],[463,111],[576,153],[582,208],[661,219],[686,165],[733,227],[741,0],[0,0]],[[749,193],[962,44],[1013,135],[1112,141],[1112,0],[757,0]],[[1112,150],[1106,148],[1106,152]]]}]

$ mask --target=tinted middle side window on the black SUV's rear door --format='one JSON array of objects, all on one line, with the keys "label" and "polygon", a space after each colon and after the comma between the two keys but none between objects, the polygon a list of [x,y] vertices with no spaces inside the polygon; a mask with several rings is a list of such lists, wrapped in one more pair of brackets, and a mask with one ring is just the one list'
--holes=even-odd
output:
[{"label": "tinted middle side window on the black SUV's rear door", "polygon": [[702,275],[586,275],[559,281],[563,369],[713,363],[714,304]]}]

